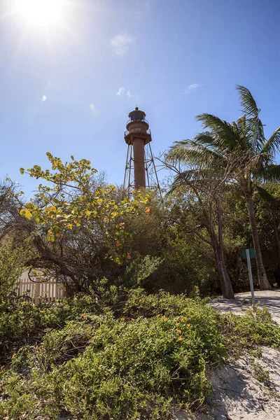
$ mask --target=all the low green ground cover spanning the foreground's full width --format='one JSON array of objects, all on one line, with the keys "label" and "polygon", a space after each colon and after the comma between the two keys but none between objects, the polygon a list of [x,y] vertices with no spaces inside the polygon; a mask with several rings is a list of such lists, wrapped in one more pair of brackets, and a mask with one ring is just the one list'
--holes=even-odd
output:
[{"label": "all the low green ground cover spanning the foreground's full width", "polygon": [[209,367],[280,344],[266,309],[222,315],[197,289],[186,298],[105,286],[104,299],[18,302],[1,314],[0,418],[172,419],[174,408],[203,406]]}]

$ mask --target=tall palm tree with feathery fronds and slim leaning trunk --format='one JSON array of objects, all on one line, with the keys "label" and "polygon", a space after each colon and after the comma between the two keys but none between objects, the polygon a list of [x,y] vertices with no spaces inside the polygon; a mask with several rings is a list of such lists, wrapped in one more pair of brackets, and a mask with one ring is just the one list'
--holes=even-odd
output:
[{"label": "tall palm tree with feathery fronds and slim leaning trunk", "polygon": [[269,290],[265,267],[262,263],[260,241],[255,219],[253,192],[259,180],[280,177],[280,165],[276,165],[275,155],[280,149],[280,127],[267,140],[260,109],[251,92],[244,86],[237,85],[241,111],[244,113],[234,123],[228,123],[216,116],[203,113],[197,116],[206,132],[197,134],[191,140],[179,141],[174,148],[180,150],[186,162],[202,169],[224,167],[228,170],[225,182],[234,182],[241,188],[248,207],[251,223],[255,261],[258,269],[260,290]]}]

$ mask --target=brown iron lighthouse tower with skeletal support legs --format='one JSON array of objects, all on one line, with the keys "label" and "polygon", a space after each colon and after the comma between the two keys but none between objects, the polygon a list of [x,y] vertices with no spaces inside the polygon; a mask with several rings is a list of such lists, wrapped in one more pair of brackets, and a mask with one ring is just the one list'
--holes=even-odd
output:
[{"label": "brown iron lighthouse tower with skeletal support legs", "polygon": [[125,165],[124,187],[128,193],[139,188],[152,188],[160,193],[158,174],[151,149],[151,130],[146,113],[135,108],[128,114],[125,142],[127,162]]}]

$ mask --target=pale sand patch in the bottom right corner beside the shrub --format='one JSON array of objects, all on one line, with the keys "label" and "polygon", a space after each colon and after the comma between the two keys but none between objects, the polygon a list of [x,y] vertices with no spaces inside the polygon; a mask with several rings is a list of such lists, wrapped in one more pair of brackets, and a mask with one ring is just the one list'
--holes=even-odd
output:
[{"label": "pale sand patch in the bottom right corner beside the shrub", "polygon": [[255,358],[269,370],[269,387],[255,377],[252,356],[248,353],[235,363],[208,372],[214,393],[208,399],[209,412],[191,416],[178,412],[177,420],[279,420],[280,351],[262,348],[262,358]]}]

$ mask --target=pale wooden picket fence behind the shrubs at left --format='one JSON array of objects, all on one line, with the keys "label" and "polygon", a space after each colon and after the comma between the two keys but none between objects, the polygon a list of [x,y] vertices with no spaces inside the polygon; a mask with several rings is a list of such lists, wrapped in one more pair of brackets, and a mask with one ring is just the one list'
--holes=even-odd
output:
[{"label": "pale wooden picket fence behind the shrubs at left", "polygon": [[17,294],[18,296],[26,295],[37,304],[40,297],[44,297],[48,302],[62,299],[64,297],[64,289],[55,279],[46,281],[45,283],[42,281],[31,281],[27,272],[25,272],[22,273],[18,281]]}]

